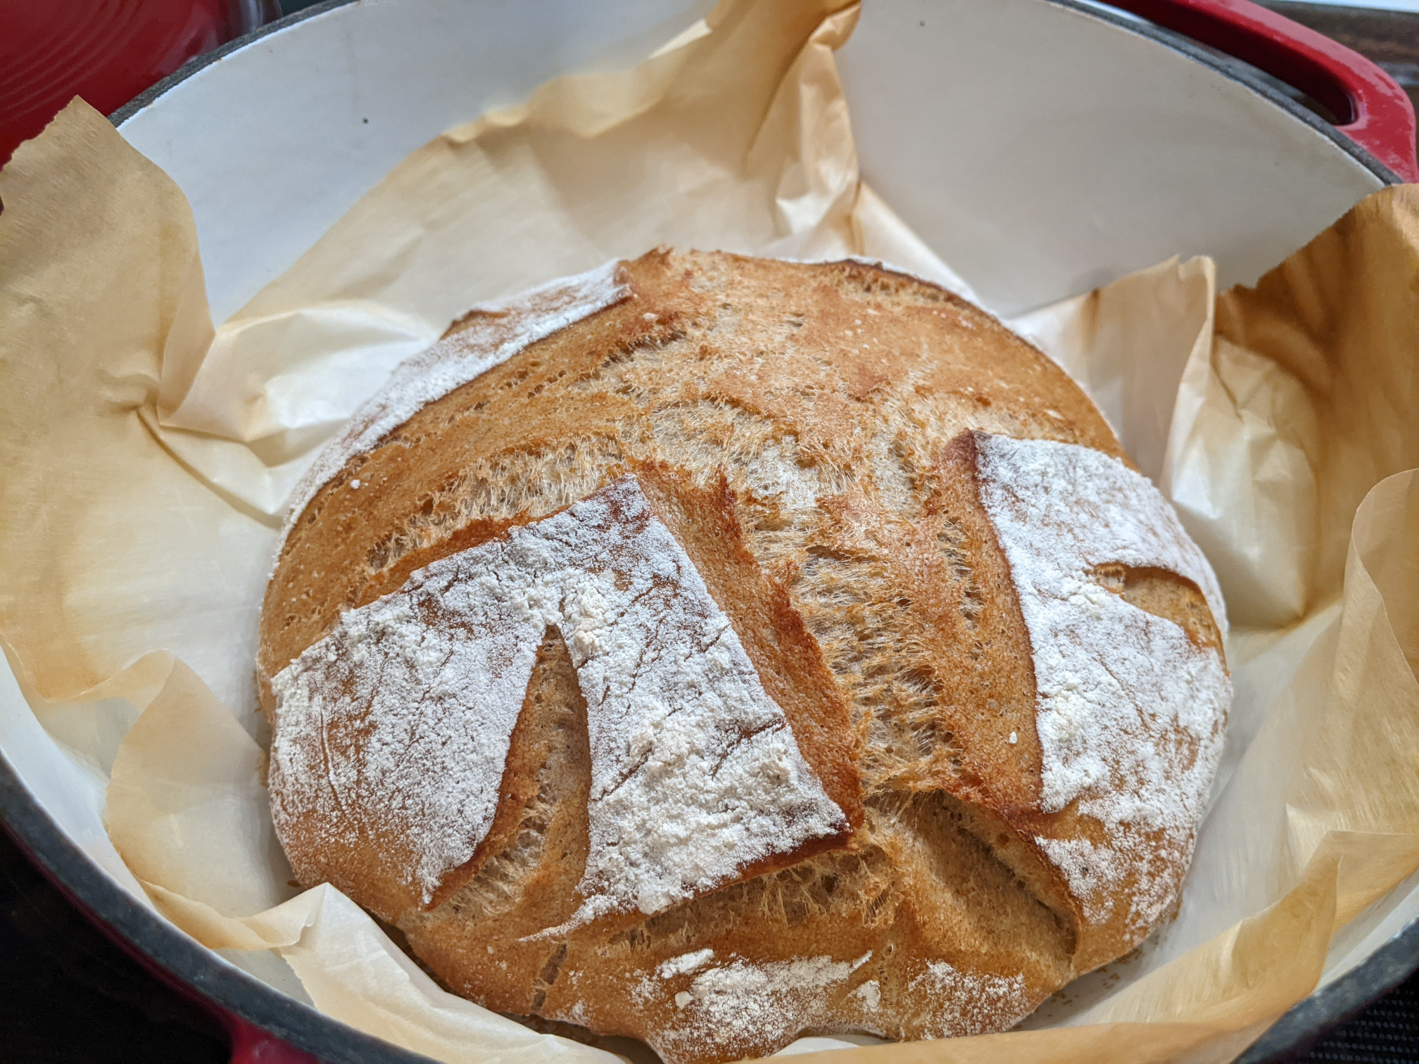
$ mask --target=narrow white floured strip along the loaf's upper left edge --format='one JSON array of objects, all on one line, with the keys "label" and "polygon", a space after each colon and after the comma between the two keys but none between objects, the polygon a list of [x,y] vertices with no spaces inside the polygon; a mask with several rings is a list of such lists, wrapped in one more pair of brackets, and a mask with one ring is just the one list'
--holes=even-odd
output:
[{"label": "narrow white floured strip along the loaf's upper left edge", "polygon": [[[291,492],[277,556],[291,525],[352,457],[373,448],[436,399],[443,399],[538,340],[630,295],[624,271],[617,261],[612,261],[576,277],[565,277],[507,299],[474,306],[473,311],[480,312],[480,316],[470,328],[402,362],[385,386],[355,411],[341,434],[316,455]],[[352,487],[359,488],[359,482]]]}]

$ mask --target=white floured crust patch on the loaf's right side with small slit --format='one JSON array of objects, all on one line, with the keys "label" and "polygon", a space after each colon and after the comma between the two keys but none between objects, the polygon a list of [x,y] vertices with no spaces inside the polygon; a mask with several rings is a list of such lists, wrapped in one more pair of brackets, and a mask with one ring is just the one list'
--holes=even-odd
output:
[{"label": "white floured crust patch on the loaf's right side with small slit", "polygon": [[1040,838],[1090,919],[1130,877],[1131,926],[1171,901],[1222,752],[1232,682],[1182,627],[1094,583],[1097,566],[1192,580],[1226,633],[1216,576],[1156,488],[1090,447],[976,433],[981,501],[1030,636],[1043,806],[1098,819],[1108,844]]}]

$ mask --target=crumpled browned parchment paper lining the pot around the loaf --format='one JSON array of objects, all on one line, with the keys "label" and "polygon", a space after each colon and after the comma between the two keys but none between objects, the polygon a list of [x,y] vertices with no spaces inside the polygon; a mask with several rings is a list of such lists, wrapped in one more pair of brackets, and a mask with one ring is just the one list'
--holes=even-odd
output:
[{"label": "crumpled browned parchment paper lining the pot around the loaf", "polygon": [[[71,105],[0,172],[0,634],[75,800],[197,941],[438,1060],[610,1058],[444,993],[291,884],[251,688],[274,529],[319,443],[480,299],[656,244],[866,254],[968,292],[858,180],[837,7],[727,3],[633,71],[451,131],[216,331],[182,193],[101,116]],[[837,1058],[1227,1060],[1419,912],[1415,277],[1419,189],[1391,189],[1254,291],[1165,262],[1015,323],[1218,567],[1229,745],[1142,949],[1025,1030]]]}]

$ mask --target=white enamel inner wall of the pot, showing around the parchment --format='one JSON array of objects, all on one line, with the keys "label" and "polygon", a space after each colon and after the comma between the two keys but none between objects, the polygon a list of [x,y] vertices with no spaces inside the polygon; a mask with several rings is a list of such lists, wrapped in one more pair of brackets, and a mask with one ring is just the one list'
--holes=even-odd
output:
[{"label": "white enamel inner wall of the pot, showing around the parchment", "polygon": [[[329,0],[189,64],[115,122],[192,201],[221,321],[419,145],[556,74],[623,67],[710,6]],[[1253,281],[1393,180],[1239,65],[1071,0],[868,0],[840,65],[864,177],[1002,312],[1172,254]],[[136,901],[98,800],[67,786],[77,772],[0,667],[0,816],[75,901],[173,980],[325,1061],[423,1060]],[[1409,929],[1247,1058],[1314,1037],[1416,960]]]}]

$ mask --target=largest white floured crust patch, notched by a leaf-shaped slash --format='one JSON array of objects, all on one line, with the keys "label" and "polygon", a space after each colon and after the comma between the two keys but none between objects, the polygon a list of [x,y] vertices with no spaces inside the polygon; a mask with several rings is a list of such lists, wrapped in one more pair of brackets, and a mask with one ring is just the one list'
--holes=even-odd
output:
[{"label": "largest white floured crust patch, notched by a leaf-shaped slash", "polygon": [[538,645],[587,704],[590,854],[573,924],[658,912],[847,830],[694,563],[623,477],[414,573],[277,674],[277,830],[407,844],[423,901],[497,810]]}]

